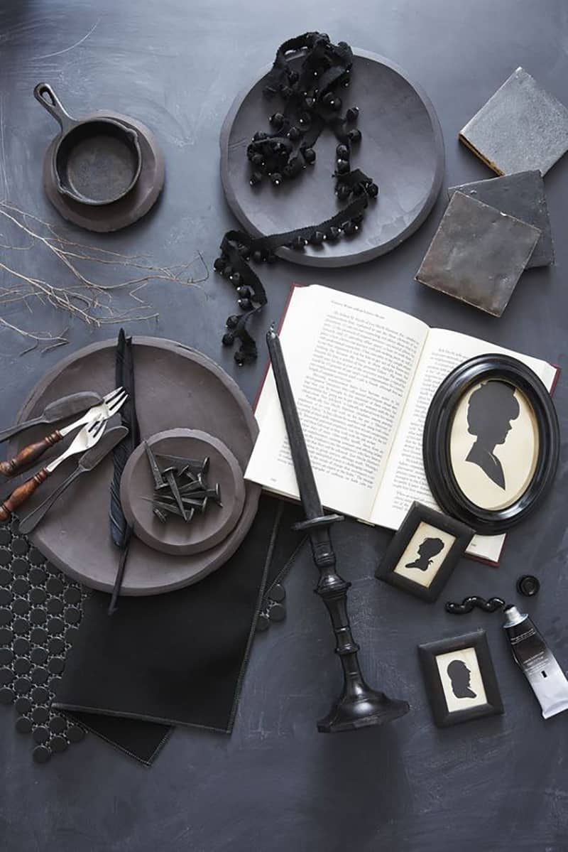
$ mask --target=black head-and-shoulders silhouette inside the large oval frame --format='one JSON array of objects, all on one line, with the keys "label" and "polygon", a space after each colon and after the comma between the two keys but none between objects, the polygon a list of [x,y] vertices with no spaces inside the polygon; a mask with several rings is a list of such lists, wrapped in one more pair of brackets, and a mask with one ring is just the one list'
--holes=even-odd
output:
[{"label": "black head-and-shoulders silhouette inside the large oval frame", "polygon": [[514,388],[503,382],[486,382],[473,391],[468,402],[468,432],[477,440],[466,461],[477,464],[503,490],[505,474],[502,463],[493,454],[497,444],[504,444],[511,421],[519,417],[519,402]]}]

